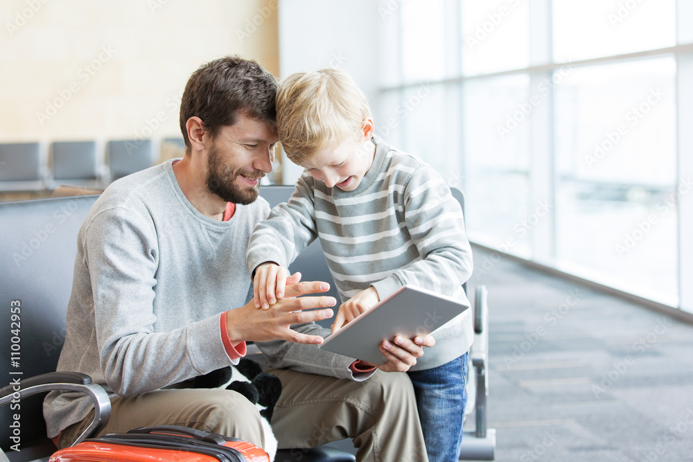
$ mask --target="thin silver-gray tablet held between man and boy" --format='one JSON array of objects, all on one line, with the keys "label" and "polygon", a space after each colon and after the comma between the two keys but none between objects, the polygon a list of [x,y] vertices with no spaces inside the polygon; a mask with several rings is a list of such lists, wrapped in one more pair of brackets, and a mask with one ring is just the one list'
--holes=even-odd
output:
[{"label": "thin silver-gray tablet held between man and boy", "polygon": [[428,335],[467,308],[468,305],[452,297],[405,285],[327,337],[319,347],[383,364],[387,362],[380,353],[384,340],[392,341],[396,335],[410,339]]}]

